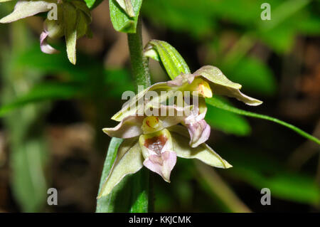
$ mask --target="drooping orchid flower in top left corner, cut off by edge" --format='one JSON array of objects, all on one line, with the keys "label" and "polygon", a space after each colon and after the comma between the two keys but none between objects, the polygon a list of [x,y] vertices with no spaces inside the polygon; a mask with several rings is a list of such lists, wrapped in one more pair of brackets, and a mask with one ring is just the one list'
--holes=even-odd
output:
[{"label": "drooping orchid flower in top left corner, cut off by edge", "polygon": [[[11,1],[11,0],[0,0]],[[71,63],[76,63],[76,42],[77,39],[90,36],[89,24],[91,23],[90,9],[84,1],[54,1],[54,0],[20,0],[16,3],[14,11],[0,20],[0,23],[11,23],[34,16],[39,13],[51,11],[55,4],[57,12],[56,19],[49,19],[44,22],[44,29],[40,36],[40,47],[43,53],[57,53],[52,46],[47,43],[47,38],[60,38],[65,36],[68,59]],[[54,14],[54,13],[53,13]]]}]

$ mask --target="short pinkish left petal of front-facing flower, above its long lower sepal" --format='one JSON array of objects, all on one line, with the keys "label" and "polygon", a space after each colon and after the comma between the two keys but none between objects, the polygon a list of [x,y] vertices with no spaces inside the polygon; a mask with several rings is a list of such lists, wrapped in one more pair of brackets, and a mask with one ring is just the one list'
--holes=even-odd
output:
[{"label": "short pinkish left petal of front-facing flower, above its long lower sepal", "polygon": [[142,122],[144,117],[129,116],[124,118],[116,127],[104,128],[102,131],[110,137],[131,138],[142,134]]}]

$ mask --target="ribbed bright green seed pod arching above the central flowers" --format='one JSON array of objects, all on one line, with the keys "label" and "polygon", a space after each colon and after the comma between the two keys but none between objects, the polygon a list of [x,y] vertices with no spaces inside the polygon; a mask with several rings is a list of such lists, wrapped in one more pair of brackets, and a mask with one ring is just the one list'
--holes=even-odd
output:
[{"label": "ribbed bright green seed pod arching above the central flowers", "polygon": [[161,62],[171,80],[174,80],[174,78],[181,73],[191,73],[186,61],[180,53],[176,51],[176,48],[165,41],[149,41],[146,45],[144,55]]}]

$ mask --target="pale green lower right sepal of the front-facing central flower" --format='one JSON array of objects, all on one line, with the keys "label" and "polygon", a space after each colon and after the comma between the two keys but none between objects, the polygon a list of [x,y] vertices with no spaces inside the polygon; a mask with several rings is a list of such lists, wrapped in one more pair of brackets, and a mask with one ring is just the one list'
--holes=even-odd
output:
[{"label": "pale green lower right sepal of the front-facing central flower", "polygon": [[186,132],[184,127],[175,125],[170,127],[169,131],[171,133],[174,152],[176,152],[178,157],[184,159],[199,159],[212,167],[223,169],[232,167],[205,143],[200,144],[198,147],[190,147],[186,143],[186,139],[188,139],[188,132]]}]

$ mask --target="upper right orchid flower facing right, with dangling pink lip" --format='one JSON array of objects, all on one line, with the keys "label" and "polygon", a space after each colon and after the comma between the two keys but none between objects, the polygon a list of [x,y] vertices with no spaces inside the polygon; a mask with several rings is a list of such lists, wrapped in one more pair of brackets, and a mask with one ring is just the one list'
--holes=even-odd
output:
[{"label": "upper right orchid flower facing right, with dangling pink lip", "polygon": [[[206,65],[193,74],[181,73],[181,75],[178,75],[174,80],[151,85],[149,88],[146,88],[136,95],[136,97],[134,97],[127,105],[124,105],[122,110],[117,112],[112,117],[112,120],[121,122],[117,127],[119,127],[119,129],[123,129],[123,127],[125,127],[125,125],[132,120],[132,116],[136,115],[137,111],[143,108],[142,104],[145,102],[140,102],[139,100],[143,100],[144,95],[146,95],[148,92],[152,91],[160,94],[161,91],[171,91],[169,94],[174,95],[174,92],[176,91],[189,91],[192,95],[198,94],[198,105],[194,105],[191,115],[184,117],[181,123],[188,128],[188,132],[191,137],[191,147],[197,147],[198,144],[206,142],[210,135],[210,126],[207,124],[206,120],[204,120],[207,110],[206,103],[204,101],[205,97],[212,97],[213,94],[217,94],[235,97],[238,100],[245,102],[247,105],[260,105],[262,103],[260,100],[241,93],[240,88],[240,84],[233,83],[232,81],[228,80],[228,78],[226,78],[218,68],[211,65]],[[158,100],[149,100],[148,102],[162,103],[169,98],[170,97],[168,97],[168,95],[159,95]],[[148,107],[149,106],[146,105],[146,108]],[[140,118],[140,124],[142,119],[143,118]],[[117,130],[117,127],[114,128],[114,130]],[[139,134],[139,130],[136,130],[135,132]],[[112,135],[110,134],[110,136]]]}]

